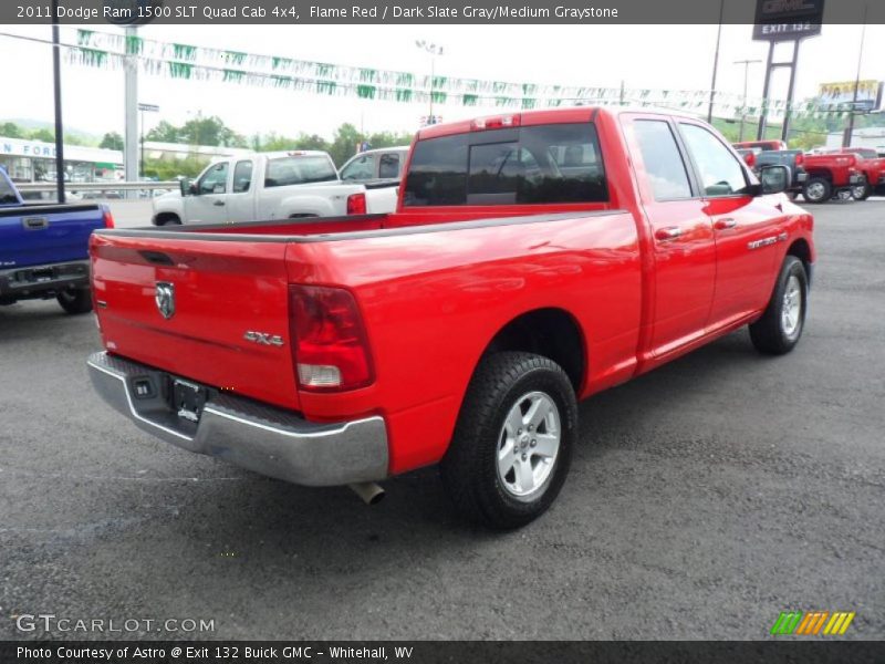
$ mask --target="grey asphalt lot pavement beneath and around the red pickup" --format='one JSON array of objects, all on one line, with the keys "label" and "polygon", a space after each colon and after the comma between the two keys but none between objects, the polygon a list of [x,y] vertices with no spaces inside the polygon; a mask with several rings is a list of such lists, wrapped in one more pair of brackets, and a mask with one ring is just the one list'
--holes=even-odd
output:
[{"label": "grey asphalt lot pavement beneath and around the red pickup", "polygon": [[558,502],[503,535],[435,469],[369,508],[143,434],[92,391],[91,315],[0,308],[0,639],[745,640],[785,610],[885,639],[885,203],[813,211],[798,349],[741,330],[584,403]]}]

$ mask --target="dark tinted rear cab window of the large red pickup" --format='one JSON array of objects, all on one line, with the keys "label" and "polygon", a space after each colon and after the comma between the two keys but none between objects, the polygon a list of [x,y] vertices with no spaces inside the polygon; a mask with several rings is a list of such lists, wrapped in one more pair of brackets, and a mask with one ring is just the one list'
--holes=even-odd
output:
[{"label": "dark tinted rear cab window of the large red pickup", "polygon": [[598,137],[591,123],[551,124],[419,141],[406,206],[604,203]]}]

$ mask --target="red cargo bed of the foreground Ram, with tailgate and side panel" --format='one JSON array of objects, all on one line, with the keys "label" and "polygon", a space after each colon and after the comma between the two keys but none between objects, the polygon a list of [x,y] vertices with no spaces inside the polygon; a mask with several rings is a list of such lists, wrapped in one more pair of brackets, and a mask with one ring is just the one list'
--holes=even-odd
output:
[{"label": "red cargo bed of the foreground Ram, with tailgate and side panel", "polygon": [[[501,321],[538,307],[572,311],[592,331],[598,366],[628,372],[642,297],[634,217],[605,209],[497,212],[98,231],[92,269],[105,346],[317,422],[368,416],[377,404],[386,404],[387,417],[416,426],[428,417],[450,422],[483,344]],[[157,282],[175,284],[171,319],[157,311]],[[354,294],[377,367],[372,385],[342,394],[299,391],[290,284]],[[601,305],[607,315],[598,318]],[[287,341],[256,344],[244,339],[248,331]],[[594,375],[595,365],[589,375],[594,385],[617,382]],[[404,388],[416,380],[427,384]],[[439,437],[450,434],[444,428]],[[429,455],[438,445],[427,438],[427,449],[415,454]],[[393,459],[394,467],[399,461]]]}]

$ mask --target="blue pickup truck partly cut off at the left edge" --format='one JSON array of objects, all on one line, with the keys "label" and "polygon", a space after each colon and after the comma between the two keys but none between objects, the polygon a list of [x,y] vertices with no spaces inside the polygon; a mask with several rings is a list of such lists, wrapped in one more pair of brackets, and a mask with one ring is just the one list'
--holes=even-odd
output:
[{"label": "blue pickup truck partly cut off at the left edge", "polygon": [[0,305],[55,298],[92,311],[90,235],[113,226],[104,205],[25,205],[0,168]]}]

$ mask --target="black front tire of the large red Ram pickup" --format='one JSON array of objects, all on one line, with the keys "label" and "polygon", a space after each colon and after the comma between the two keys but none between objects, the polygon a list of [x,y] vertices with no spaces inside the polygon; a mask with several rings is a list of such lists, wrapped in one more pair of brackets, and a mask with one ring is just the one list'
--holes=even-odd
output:
[{"label": "black front tire of the large red Ram pickup", "polygon": [[[788,308],[785,298],[788,287],[793,278],[799,284],[799,317],[795,329],[791,330],[789,320],[784,317],[784,310]],[[766,312],[762,318],[750,325],[750,339],[756,350],[767,355],[783,355],[792,351],[805,328],[808,301],[809,278],[805,267],[795,256],[788,256],[783,261],[780,274],[778,274],[774,293],[771,295]]]}]

